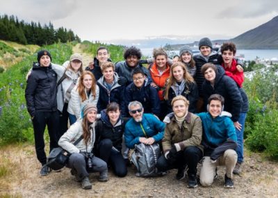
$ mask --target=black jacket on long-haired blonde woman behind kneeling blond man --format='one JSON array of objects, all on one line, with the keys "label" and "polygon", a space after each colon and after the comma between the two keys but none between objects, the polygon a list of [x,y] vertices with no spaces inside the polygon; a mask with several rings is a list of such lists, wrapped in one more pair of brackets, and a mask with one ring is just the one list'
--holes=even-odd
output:
[{"label": "black jacket on long-haired blonde woman behind kneeling blond man", "polygon": [[[186,97],[186,99],[189,101],[188,112],[196,113],[197,112],[196,102],[199,99],[197,84],[195,82],[186,83],[186,86],[184,86],[184,89],[181,92],[181,96]],[[168,100],[166,100],[167,114],[173,112],[171,102],[174,97],[176,97],[176,93],[174,93],[174,90],[171,87],[168,93]]]}]

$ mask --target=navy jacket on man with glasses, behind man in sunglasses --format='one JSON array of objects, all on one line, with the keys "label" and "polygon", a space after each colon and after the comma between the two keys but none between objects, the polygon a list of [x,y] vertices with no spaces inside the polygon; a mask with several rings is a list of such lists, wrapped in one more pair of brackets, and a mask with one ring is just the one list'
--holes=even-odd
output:
[{"label": "navy jacket on man with glasses, behind man in sunglasses", "polygon": [[158,98],[157,90],[151,86],[151,83],[147,79],[145,80],[145,84],[140,89],[138,89],[134,83],[126,86],[124,92],[124,106],[122,109],[122,116],[129,116],[129,102],[135,100],[142,103],[144,113],[150,113],[159,116],[161,111],[161,102]]}]

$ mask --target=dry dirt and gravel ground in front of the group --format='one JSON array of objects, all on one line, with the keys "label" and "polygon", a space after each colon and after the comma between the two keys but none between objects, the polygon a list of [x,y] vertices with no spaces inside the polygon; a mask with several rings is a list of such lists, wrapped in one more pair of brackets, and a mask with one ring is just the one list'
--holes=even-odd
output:
[{"label": "dry dirt and gravel ground in front of the group", "polygon": [[97,181],[97,174],[90,175],[92,190],[82,190],[74,181],[70,169],[40,176],[40,164],[31,145],[8,146],[0,150],[0,197],[278,197],[278,163],[263,160],[258,154],[245,157],[241,176],[234,176],[234,189],[225,189],[224,169],[210,188],[186,188],[187,181],[177,181],[176,170],[163,177],[138,178],[134,167],[129,174],[117,178],[109,171],[110,180]]}]

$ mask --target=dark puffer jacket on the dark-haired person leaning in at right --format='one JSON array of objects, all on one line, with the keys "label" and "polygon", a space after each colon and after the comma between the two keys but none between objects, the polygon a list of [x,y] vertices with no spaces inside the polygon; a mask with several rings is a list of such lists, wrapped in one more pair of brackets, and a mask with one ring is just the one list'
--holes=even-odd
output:
[{"label": "dark puffer jacket on the dark-haired person leaning in at right", "polygon": [[204,80],[203,86],[204,107],[208,105],[208,98],[212,94],[218,93],[224,97],[224,111],[231,113],[231,120],[238,121],[241,112],[243,99],[234,79],[224,75],[224,70],[218,66],[215,76],[215,84],[211,86],[211,82]]}]

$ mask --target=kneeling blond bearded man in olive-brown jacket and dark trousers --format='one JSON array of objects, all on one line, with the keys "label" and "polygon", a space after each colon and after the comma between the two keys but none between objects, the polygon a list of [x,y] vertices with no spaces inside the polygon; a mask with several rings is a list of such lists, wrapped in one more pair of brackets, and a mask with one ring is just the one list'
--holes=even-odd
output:
[{"label": "kneeling blond bearded man in olive-brown jacket and dark trousers", "polygon": [[174,116],[165,127],[164,155],[158,158],[157,167],[163,172],[177,168],[177,180],[185,177],[188,167],[188,188],[196,188],[197,164],[203,156],[202,121],[188,112],[189,101],[184,96],[174,97],[171,105]]}]

